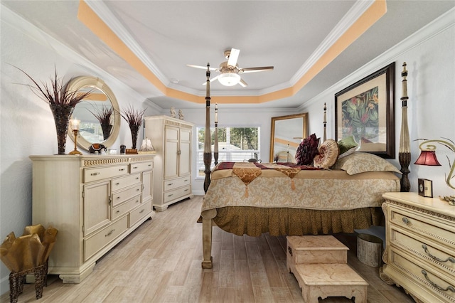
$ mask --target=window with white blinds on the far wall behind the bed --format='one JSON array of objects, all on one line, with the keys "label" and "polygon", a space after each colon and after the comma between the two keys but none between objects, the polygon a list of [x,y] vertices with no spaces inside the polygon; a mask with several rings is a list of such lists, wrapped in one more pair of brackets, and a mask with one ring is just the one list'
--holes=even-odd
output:
[{"label": "window with white blinds on the far wall behind the bed", "polygon": [[[198,132],[198,176],[204,174],[204,136],[205,127],[197,127]],[[212,138],[212,164],[210,169],[215,166],[213,158],[213,142],[215,142],[215,127],[210,128]],[[218,127],[218,163],[223,161],[247,161],[248,159],[260,159],[259,127]]]}]

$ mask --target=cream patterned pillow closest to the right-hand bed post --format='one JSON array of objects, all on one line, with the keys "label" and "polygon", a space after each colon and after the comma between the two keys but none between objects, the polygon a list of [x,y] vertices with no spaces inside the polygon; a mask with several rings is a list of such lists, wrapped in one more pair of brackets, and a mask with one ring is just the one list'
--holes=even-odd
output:
[{"label": "cream patterned pillow closest to the right-hand bed post", "polygon": [[343,169],[348,175],[360,174],[365,171],[392,171],[401,174],[399,169],[380,156],[360,151],[345,156],[343,159],[338,159],[332,168]]}]

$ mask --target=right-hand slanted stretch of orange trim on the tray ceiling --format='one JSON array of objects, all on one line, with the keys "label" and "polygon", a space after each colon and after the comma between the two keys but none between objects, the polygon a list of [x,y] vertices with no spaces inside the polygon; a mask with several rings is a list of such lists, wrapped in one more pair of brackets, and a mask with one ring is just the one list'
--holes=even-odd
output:
[{"label": "right-hand slanted stretch of orange trim on the tray ceiling", "polygon": [[361,15],[348,30],[343,33],[333,45],[328,48],[316,63],[303,75],[293,87],[294,94],[301,90],[307,83],[310,82],[318,73],[331,63],[338,55],[343,53],[351,43],[357,40],[365,31],[373,26],[382,16],[387,13],[387,4],[385,0],[376,0],[371,6]]}]

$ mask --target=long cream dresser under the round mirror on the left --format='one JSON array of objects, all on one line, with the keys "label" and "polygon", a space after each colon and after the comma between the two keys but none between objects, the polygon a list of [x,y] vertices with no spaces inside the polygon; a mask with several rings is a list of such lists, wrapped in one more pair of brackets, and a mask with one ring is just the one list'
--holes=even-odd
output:
[{"label": "long cream dresser under the round mirror on the left", "polygon": [[33,224],[58,234],[49,273],[79,283],[95,262],[152,218],[154,155],[30,156]]}]

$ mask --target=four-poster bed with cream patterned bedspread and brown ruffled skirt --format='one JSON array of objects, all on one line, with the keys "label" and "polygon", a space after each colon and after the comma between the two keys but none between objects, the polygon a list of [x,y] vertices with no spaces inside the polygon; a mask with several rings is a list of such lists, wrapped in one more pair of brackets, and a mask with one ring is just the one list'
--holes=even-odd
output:
[{"label": "four-poster bed with cream patterned bedspread and brown ruffled skirt", "polygon": [[[207,85],[205,129],[210,129],[209,80]],[[216,166],[210,171],[210,145],[206,137],[203,268],[213,266],[213,226],[250,236],[353,233],[380,225],[382,193],[400,191],[400,170],[373,154],[351,152],[331,169],[280,162],[217,164],[215,144]]]}]

